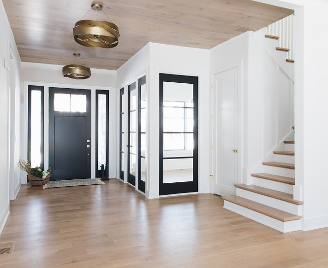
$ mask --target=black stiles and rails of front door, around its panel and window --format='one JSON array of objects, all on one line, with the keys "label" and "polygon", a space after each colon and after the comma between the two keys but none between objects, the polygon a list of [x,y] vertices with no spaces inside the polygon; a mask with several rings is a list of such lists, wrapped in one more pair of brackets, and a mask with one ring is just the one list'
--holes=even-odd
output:
[{"label": "black stiles and rails of front door, around its panel and window", "polygon": [[[65,112],[65,111],[54,111],[54,94],[76,94],[76,95],[86,95],[86,114],[85,112]],[[52,109],[51,109],[52,107]],[[49,87],[49,166],[54,163],[54,130],[50,129],[50,126],[54,126],[54,116],[55,113],[58,115],[67,116],[85,116],[86,117],[86,139],[91,141],[91,90],[88,89],[72,89],[72,88],[55,88]],[[89,147],[87,148],[87,145]],[[51,154],[52,152],[52,154]],[[87,143],[85,140],[85,154],[86,154],[86,171],[87,176],[83,178],[91,178],[91,143]],[[54,170],[54,167],[52,166]],[[53,172],[52,172],[53,173]],[[79,177],[80,178],[80,177]],[[62,180],[63,178],[57,178],[56,180]],[[64,178],[69,179],[69,178]],[[73,179],[73,177],[72,177]],[[77,178],[78,179],[78,178]],[[52,177],[50,177],[52,180]]]}]

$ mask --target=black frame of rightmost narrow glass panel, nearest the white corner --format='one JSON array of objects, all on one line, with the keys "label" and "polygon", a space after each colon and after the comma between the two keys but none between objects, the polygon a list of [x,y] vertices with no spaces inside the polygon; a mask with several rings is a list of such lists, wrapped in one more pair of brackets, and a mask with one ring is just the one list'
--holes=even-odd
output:
[{"label": "black frame of rightmost narrow glass panel, nearest the white corner", "polygon": [[141,158],[146,159],[141,156],[141,134],[146,134],[146,132],[141,132],[141,86],[146,84],[146,75],[139,78],[139,91],[138,91],[138,189],[145,193],[146,182],[141,179]]}]

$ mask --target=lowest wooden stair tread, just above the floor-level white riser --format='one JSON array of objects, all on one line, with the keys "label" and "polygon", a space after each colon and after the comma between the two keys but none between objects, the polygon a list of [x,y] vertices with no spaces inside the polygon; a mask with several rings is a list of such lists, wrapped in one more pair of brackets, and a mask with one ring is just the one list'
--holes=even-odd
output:
[{"label": "lowest wooden stair tread, just above the floor-level white riser", "polygon": [[234,204],[237,204],[239,206],[242,206],[246,209],[253,210],[255,212],[258,212],[260,214],[267,215],[269,217],[278,219],[280,221],[291,221],[291,220],[297,220],[302,218],[301,216],[294,215],[288,212],[284,212],[251,200],[248,200],[246,198],[240,197],[240,196],[223,196],[222,199],[227,200],[229,202],[232,202]]}]

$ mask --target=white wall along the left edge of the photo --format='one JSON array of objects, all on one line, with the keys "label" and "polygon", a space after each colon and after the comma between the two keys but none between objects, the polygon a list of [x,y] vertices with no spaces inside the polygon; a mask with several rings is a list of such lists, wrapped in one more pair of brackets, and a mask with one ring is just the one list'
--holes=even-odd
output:
[{"label": "white wall along the left edge of the photo", "polygon": [[[7,16],[4,11],[4,7],[2,4],[2,1],[0,2],[0,140],[2,141],[2,146],[0,150],[0,232],[3,229],[5,220],[9,214],[9,147],[10,142],[13,141],[14,145],[17,149],[16,155],[19,154],[19,125],[15,124],[14,121],[10,119],[9,121],[9,108],[10,105],[14,105],[14,109],[12,110],[13,116],[16,116],[16,118],[19,120],[19,106],[17,107],[16,104],[20,102],[20,57],[15,45],[15,41],[9,26],[9,22],[7,20]],[[10,44],[10,45],[9,45]],[[12,48],[13,57],[15,58],[15,64],[10,64],[8,62],[8,67],[11,67],[11,80],[14,80],[11,82],[11,96],[13,96],[13,100],[10,100],[9,97],[9,71],[4,68],[4,62],[5,60],[9,60],[9,46]],[[11,65],[11,66],[10,66]],[[14,68],[14,69],[13,69]],[[15,75],[13,75],[15,74]],[[11,101],[11,102],[10,102]],[[12,107],[12,106],[11,106]],[[13,126],[14,133],[12,133],[14,136],[17,135],[17,140],[10,140],[9,139],[9,128],[10,123],[11,126]],[[14,153],[14,152],[12,152]],[[14,161],[17,160],[15,158],[17,156],[14,155]],[[14,166],[14,165],[13,165]],[[17,168],[14,167],[14,170],[10,172],[15,176],[15,174],[18,174],[19,171]],[[18,191],[19,189],[19,176],[10,178],[10,180],[13,182],[11,185],[13,186],[13,189],[10,189],[11,192],[14,193],[14,191]],[[15,194],[15,193],[14,193]],[[13,195],[14,195],[13,194]]]}]

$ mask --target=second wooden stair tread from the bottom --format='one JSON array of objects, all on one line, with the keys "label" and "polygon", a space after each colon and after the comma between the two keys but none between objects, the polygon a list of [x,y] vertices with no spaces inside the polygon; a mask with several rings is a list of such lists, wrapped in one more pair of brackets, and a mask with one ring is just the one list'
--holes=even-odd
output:
[{"label": "second wooden stair tread from the bottom", "polygon": [[291,203],[291,204],[295,204],[295,205],[302,205],[303,204],[303,201],[295,200],[293,198],[292,194],[288,194],[288,193],[285,193],[285,192],[280,192],[280,191],[260,187],[260,186],[257,186],[257,185],[252,185],[252,184],[251,185],[235,184],[234,186],[237,187],[237,188],[240,188],[240,189],[244,189],[246,191],[250,191],[250,192],[253,192],[253,193],[260,194],[260,195],[265,195],[265,196],[268,196],[268,197],[279,199],[279,200],[282,200],[282,201],[285,201],[285,202],[288,202],[288,203]]}]

